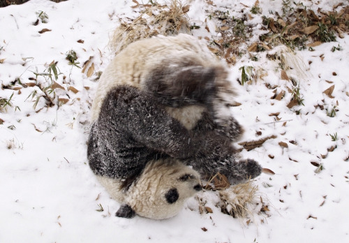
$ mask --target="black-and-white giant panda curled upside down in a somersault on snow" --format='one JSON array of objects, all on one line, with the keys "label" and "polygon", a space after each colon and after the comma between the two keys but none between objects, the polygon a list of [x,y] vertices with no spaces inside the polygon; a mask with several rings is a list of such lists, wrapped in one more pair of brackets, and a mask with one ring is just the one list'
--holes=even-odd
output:
[{"label": "black-and-white giant panda curled upside down in a somersault on snow", "polygon": [[[225,66],[207,47],[184,34],[139,40],[114,57],[101,75],[91,108],[87,157],[101,184],[123,203],[117,216],[165,219],[178,212],[179,207],[168,207],[165,214],[156,214],[156,201],[166,198],[165,185],[181,181],[160,169],[161,182],[151,184],[161,191],[150,204],[154,214],[136,207],[149,199],[151,186],[143,196],[135,190],[154,179],[148,166],[170,166],[179,175],[190,169],[185,174],[203,177],[221,172],[231,181],[260,175],[260,165],[238,161],[232,146],[243,130],[222,112],[225,94],[234,93],[226,77]],[[179,198],[198,189],[198,184],[185,185],[174,187]]]}]

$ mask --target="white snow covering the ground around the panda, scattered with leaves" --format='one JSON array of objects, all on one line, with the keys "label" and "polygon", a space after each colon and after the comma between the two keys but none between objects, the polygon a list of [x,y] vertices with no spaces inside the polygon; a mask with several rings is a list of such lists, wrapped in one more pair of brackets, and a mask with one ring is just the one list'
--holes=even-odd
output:
[{"label": "white snow covering the ground around the panda, scattered with leaves", "polygon": [[[253,6],[255,1],[214,2],[219,2],[218,8],[228,6],[230,15],[239,16],[246,8],[241,3]],[[313,2],[304,4],[331,10],[341,1]],[[195,0],[190,4],[188,16],[196,25],[204,23],[205,3]],[[16,78],[34,82],[29,78],[35,78],[36,68],[39,73],[47,72],[47,65],[58,61],[63,74],[57,82],[66,89],[72,86],[78,90],[75,94],[57,89],[59,98],[70,99],[58,110],[57,105],[44,108],[44,98],[34,109],[34,102],[27,98],[34,88],[22,88],[21,94],[13,89],[0,90],[1,98],[14,94],[13,108],[0,112],[4,121],[0,125],[0,242],[349,242],[348,34],[343,39],[337,37],[337,42],[313,47],[313,52],[297,51],[306,76],[292,71],[288,74],[299,81],[304,106],[286,108],[291,98],[288,92],[281,101],[271,99],[274,89],[268,89],[265,83],[278,86],[278,93],[291,87],[289,81],[281,80],[276,62],[264,56],[251,61],[245,54],[230,67],[230,80],[238,90],[237,101],[242,103],[231,108],[246,129],[242,141],[277,136],[262,147],[242,150],[244,158],[255,159],[276,173],[263,173],[255,179],[260,195],[268,201],[267,214],[255,214],[249,224],[247,219],[232,218],[215,207],[214,193],[207,191],[200,195],[206,198],[212,214],[200,214],[198,201],[191,198],[172,219],[114,216],[119,204],[98,184],[86,158],[96,75],[87,77],[80,68],[68,65],[66,52],[75,50],[80,67],[92,56],[95,71],[103,71],[113,55],[107,45],[109,36],[119,25],[119,17],[135,15],[133,5],[132,1],[101,0],[97,4],[93,0],[31,0],[0,8],[1,84],[9,85]],[[260,7],[264,15],[269,15],[269,10],[282,13],[281,1],[260,1]],[[213,6],[205,6],[209,8]],[[47,24],[33,25],[38,11],[47,13]],[[251,21],[257,24],[256,19]],[[214,24],[207,25],[214,34]],[[51,31],[39,34],[44,28]],[[203,29],[194,30],[194,35],[207,35]],[[255,27],[254,31],[257,36],[261,30]],[[80,39],[84,43],[78,43]],[[338,45],[342,50],[331,52]],[[241,86],[236,82],[241,66],[262,68],[268,75]],[[45,84],[43,76],[38,80]],[[323,91],[333,84],[334,98],[330,98]],[[21,86],[17,83],[16,87]],[[315,105],[323,105],[324,110]],[[15,110],[16,106],[20,110]],[[336,116],[327,116],[326,109],[334,106],[338,109]],[[280,112],[280,121],[269,116],[273,112]],[[262,135],[256,135],[257,131]],[[334,133],[338,135],[336,141],[330,136]],[[288,147],[281,147],[279,142],[286,142]],[[328,152],[331,147],[336,148]],[[311,162],[321,163],[325,170],[315,173]],[[103,212],[96,211],[98,205]],[[202,230],[204,227],[207,231]]]}]

